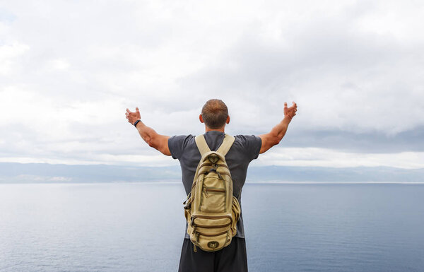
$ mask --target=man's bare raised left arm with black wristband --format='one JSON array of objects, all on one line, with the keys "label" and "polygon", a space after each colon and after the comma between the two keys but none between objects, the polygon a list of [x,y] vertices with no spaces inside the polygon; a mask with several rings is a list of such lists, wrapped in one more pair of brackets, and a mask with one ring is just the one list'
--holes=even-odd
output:
[{"label": "man's bare raised left arm with black wristband", "polygon": [[[136,107],[136,112],[131,112],[130,110],[126,109],[125,115],[126,119],[128,119],[128,122],[133,125],[137,120],[140,120],[140,112],[138,107]],[[141,138],[143,138],[143,140],[149,146],[155,148],[164,155],[171,155],[170,148],[167,146],[167,140],[170,138],[170,136],[158,134],[154,129],[146,126],[141,121],[136,124],[136,129],[139,131]]]}]

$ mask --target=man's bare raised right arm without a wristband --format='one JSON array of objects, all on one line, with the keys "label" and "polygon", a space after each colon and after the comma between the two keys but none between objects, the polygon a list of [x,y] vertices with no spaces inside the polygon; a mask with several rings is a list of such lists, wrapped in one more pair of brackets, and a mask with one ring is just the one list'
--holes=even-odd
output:
[{"label": "man's bare raised right arm without a wristband", "polygon": [[284,102],[284,119],[280,122],[280,124],[274,126],[269,133],[259,135],[262,140],[261,150],[259,151],[260,154],[280,143],[281,139],[285,135],[285,131],[287,131],[288,124],[290,124],[297,111],[298,105],[296,105],[295,102],[293,102],[291,107],[287,107],[287,103]]}]

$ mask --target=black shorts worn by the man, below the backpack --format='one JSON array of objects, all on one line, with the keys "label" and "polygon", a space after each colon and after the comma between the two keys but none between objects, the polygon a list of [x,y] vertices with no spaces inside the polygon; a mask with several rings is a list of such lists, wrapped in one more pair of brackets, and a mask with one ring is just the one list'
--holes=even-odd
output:
[{"label": "black shorts worn by the man, below the backpack", "polygon": [[182,243],[179,272],[247,272],[246,242],[232,237],[231,244],[217,252],[204,252],[189,239]]}]

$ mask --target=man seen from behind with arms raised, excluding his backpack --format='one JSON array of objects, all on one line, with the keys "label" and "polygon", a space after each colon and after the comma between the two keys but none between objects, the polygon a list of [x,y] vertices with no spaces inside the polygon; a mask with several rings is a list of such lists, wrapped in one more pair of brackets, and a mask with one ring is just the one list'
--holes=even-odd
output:
[{"label": "man seen from behind with arms raised, excluding his backpack", "polygon": [[[260,153],[266,152],[269,148],[277,145],[285,135],[288,124],[296,115],[298,106],[293,102],[292,107],[287,107],[284,103],[284,119],[271,129],[268,134],[259,136],[237,135],[225,160],[230,168],[233,182],[233,193],[241,205],[241,191],[247,175],[249,162],[258,158]],[[146,126],[140,120],[139,108],[136,112],[126,109],[126,119],[136,126],[140,136],[149,146],[159,150],[164,155],[172,155],[178,159],[182,169],[182,182],[187,194],[192,189],[192,182],[196,172],[196,167],[201,158],[199,149],[196,146],[193,135],[164,136]],[[201,123],[205,124],[206,133],[204,137],[211,150],[215,151],[223,142],[225,136],[225,124],[230,123],[228,108],[222,100],[211,99],[206,102],[199,115]],[[194,252],[193,244],[186,234],[182,245],[181,259],[179,261],[180,272],[245,272],[247,271],[247,255],[245,244],[245,231],[243,218],[237,222],[237,234],[232,238],[232,242],[217,252],[204,252],[197,249]]]}]

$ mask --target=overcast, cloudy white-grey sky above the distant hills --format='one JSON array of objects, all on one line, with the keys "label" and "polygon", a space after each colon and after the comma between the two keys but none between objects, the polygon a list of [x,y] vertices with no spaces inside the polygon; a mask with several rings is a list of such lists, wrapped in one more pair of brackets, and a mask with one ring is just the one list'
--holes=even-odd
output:
[{"label": "overcast, cloudy white-grey sky above the distant hills", "polygon": [[177,165],[159,134],[229,134],[298,112],[252,164],[424,167],[422,1],[0,0],[0,162]]}]

